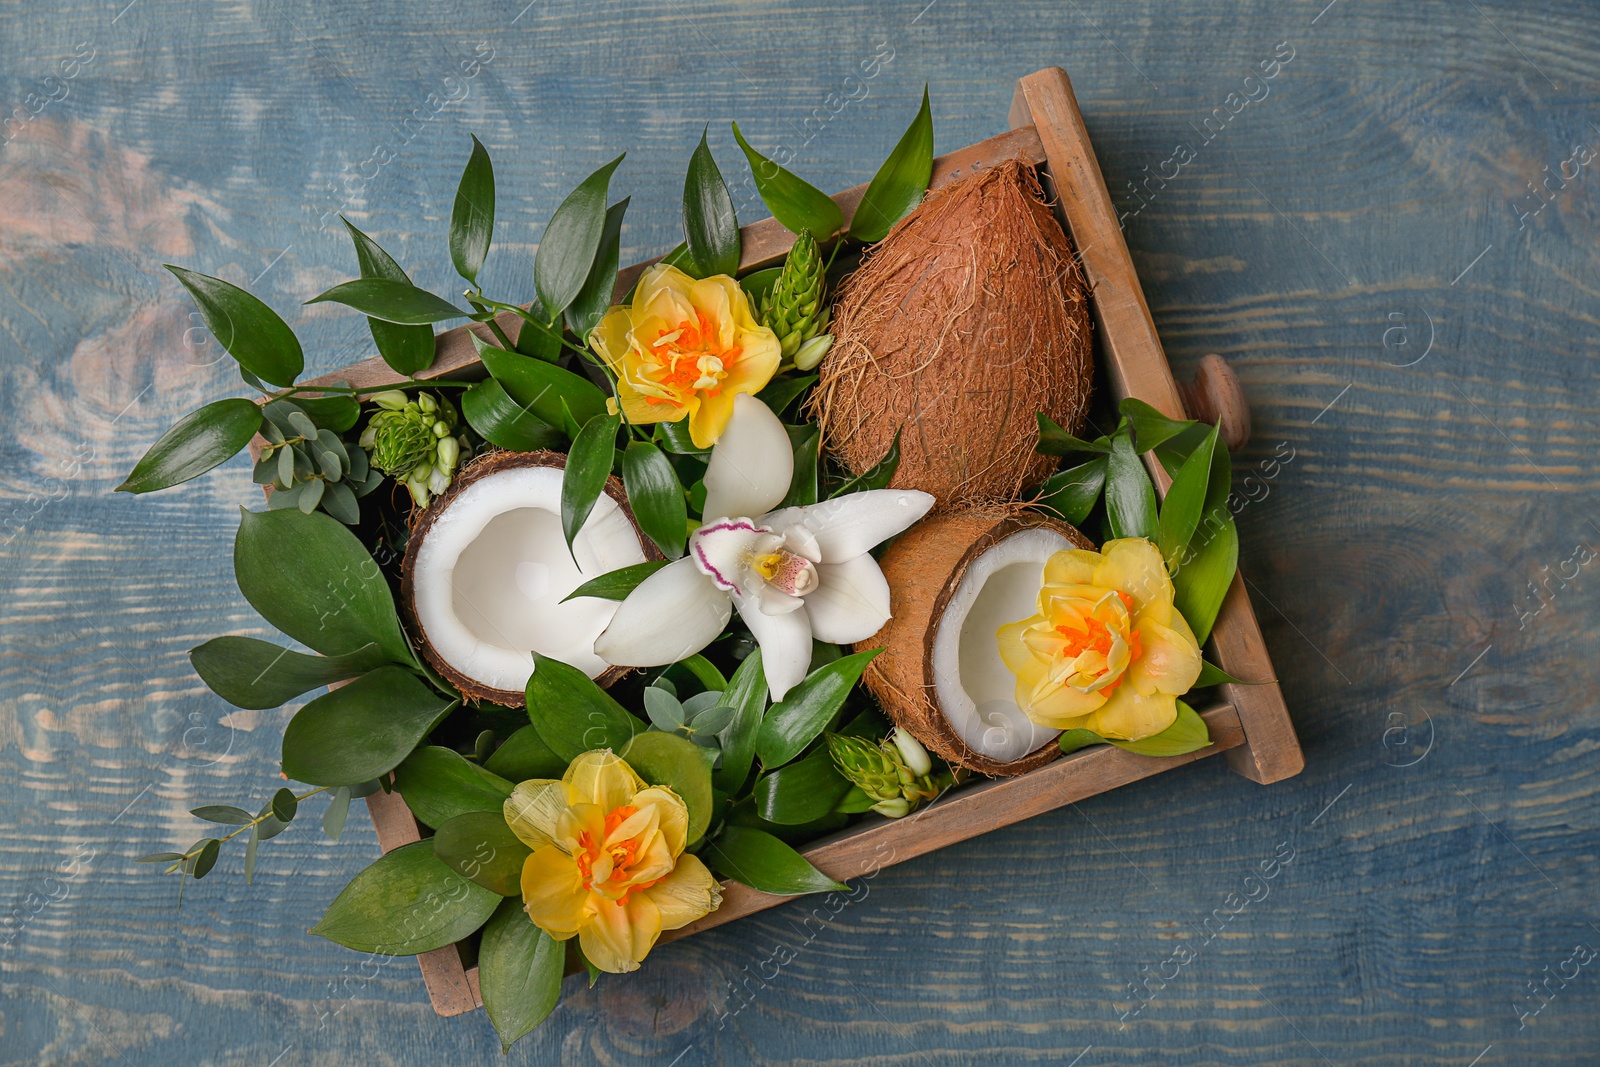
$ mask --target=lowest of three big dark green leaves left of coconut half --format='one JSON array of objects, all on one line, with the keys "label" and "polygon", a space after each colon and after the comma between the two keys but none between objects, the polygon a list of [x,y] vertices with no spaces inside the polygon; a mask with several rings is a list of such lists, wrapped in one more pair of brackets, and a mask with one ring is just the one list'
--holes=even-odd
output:
[{"label": "lowest of three big dark green leaves left of coconut half", "polygon": [[357,785],[392,771],[456,705],[403,667],[379,667],[302,707],[283,729],[283,773]]}]

